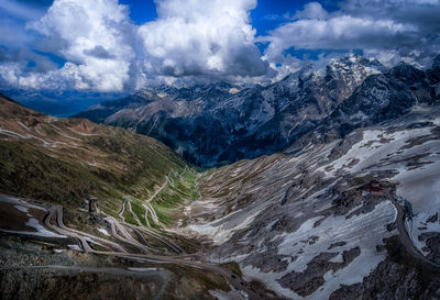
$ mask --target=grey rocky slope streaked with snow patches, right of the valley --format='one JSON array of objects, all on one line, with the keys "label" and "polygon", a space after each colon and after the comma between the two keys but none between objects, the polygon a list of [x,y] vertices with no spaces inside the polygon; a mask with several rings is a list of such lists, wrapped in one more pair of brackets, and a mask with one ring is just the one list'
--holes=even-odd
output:
[{"label": "grey rocky slope streaked with snow patches, right of the valley", "polygon": [[439,155],[440,108],[418,104],[327,144],[207,171],[183,232],[290,299],[436,299]]}]

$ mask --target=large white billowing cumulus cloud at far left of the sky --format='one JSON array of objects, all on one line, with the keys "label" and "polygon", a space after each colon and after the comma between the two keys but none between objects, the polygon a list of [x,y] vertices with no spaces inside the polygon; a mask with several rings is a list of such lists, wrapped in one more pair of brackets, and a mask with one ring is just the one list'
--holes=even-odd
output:
[{"label": "large white billowing cumulus cloud at far left of the sky", "polygon": [[130,42],[133,25],[125,5],[117,0],[55,0],[26,27],[44,36],[67,63],[44,74],[4,64],[0,74],[8,82],[36,89],[57,85],[61,89],[123,90],[135,57]]}]

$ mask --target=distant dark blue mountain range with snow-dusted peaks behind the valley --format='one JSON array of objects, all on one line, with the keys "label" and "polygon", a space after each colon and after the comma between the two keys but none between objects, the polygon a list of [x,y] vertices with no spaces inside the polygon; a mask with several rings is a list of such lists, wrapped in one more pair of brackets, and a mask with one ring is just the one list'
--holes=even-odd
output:
[{"label": "distant dark blue mountain range with snow-dusted peaks behind the valley", "polygon": [[267,87],[160,87],[74,116],[156,137],[189,162],[213,166],[310,138],[341,137],[400,115],[415,103],[437,102],[439,78],[440,56],[431,69],[420,70],[405,63],[386,68],[351,55],[323,70],[305,68]]}]

